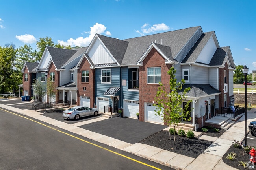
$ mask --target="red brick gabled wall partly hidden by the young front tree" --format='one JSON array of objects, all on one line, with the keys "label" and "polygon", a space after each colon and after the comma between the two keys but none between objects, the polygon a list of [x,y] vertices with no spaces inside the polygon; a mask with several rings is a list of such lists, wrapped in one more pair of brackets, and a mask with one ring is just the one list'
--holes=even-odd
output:
[{"label": "red brick gabled wall partly hidden by the young front tree", "polygon": [[161,67],[161,82],[165,88],[169,87],[170,77],[167,71],[171,68],[171,64],[165,64],[165,59],[153,48],[147,57],[143,60],[143,66],[139,67],[139,120],[145,121],[144,104],[152,103],[158,91],[158,84],[147,84],[147,68]]}]

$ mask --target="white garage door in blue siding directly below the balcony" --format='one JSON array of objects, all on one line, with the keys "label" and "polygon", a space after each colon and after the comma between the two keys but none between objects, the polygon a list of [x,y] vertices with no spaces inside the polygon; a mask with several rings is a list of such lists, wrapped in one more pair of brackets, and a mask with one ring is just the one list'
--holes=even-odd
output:
[{"label": "white garage door in blue siding directly below the balcony", "polygon": [[139,112],[139,101],[124,100],[124,116],[137,118]]}]

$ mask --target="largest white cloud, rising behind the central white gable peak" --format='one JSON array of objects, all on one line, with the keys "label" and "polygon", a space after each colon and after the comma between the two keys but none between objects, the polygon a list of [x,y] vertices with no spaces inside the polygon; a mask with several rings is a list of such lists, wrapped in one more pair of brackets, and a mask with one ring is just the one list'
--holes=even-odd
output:
[{"label": "largest white cloud, rising behind the central white gable peak", "polygon": [[[58,43],[64,46],[80,46],[80,47],[85,47],[89,46],[91,40],[93,39],[94,35],[97,34],[102,34],[105,33],[106,35],[111,35],[109,31],[106,31],[106,27],[102,24],[96,23],[93,27],[90,27],[91,31],[90,32],[84,32],[84,33],[90,33],[89,37],[78,37],[76,39],[70,38],[67,41],[63,40],[58,40]],[[106,32],[104,32],[106,31]]]}]

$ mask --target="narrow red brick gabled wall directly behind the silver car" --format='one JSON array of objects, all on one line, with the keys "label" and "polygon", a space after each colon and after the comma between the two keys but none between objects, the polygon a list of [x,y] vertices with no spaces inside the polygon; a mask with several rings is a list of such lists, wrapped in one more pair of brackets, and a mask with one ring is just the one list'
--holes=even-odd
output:
[{"label": "narrow red brick gabled wall directly behind the silver car", "polygon": [[[77,104],[81,105],[80,103],[80,96],[87,96],[90,97],[90,107],[94,108],[94,76],[95,76],[95,70],[90,68],[89,62],[86,60],[86,58],[83,58],[79,69],[77,71],[77,87],[78,87],[78,93],[77,93]],[[89,82],[82,82],[82,71],[89,71]],[[86,91],[83,91],[83,88],[86,88]]]}]

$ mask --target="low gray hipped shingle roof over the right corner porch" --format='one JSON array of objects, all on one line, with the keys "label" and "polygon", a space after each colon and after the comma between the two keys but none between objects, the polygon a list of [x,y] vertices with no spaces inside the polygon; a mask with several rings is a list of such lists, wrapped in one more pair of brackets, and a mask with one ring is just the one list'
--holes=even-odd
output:
[{"label": "low gray hipped shingle roof over the right corner porch", "polygon": [[[182,91],[184,88],[190,87],[191,89],[186,93],[188,97],[203,97],[207,95],[213,95],[216,93],[221,93],[219,90],[213,88],[210,84],[184,84],[182,86]],[[179,92],[182,93],[182,92]]]}]

